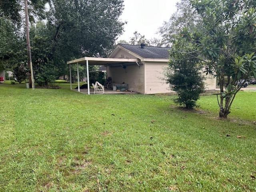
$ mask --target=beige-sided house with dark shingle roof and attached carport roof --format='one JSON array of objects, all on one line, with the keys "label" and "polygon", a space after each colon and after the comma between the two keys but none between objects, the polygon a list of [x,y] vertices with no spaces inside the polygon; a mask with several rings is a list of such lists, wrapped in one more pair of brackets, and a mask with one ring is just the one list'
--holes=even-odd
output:
[{"label": "beige-sided house with dark shingle roof and attached carport roof", "polygon": [[[107,76],[113,83],[128,84],[128,90],[141,94],[169,93],[169,84],[164,80],[168,67],[169,50],[166,47],[145,46],[145,44],[118,44],[108,58],[80,58],[68,64],[105,65]],[[216,89],[216,78],[208,75],[206,90]],[[89,93],[89,91],[88,91]]]}]

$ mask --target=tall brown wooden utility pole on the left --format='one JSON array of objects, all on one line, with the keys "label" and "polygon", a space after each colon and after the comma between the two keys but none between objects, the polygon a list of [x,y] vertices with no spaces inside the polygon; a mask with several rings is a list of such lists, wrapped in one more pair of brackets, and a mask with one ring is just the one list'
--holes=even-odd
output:
[{"label": "tall brown wooden utility pole on the left", "polygon": [[30,72],[28,74],[29,87],[35,89],[34,85],[34,75],[33,66],[31,59],[31,49],[30,49],[30,38],[29,38],[29,25],[28,25],[28,0],[24,0],[25,3],[25,22],[26,22],[26,40],[27,40],[27,52],[28,52],[28,68]]}]

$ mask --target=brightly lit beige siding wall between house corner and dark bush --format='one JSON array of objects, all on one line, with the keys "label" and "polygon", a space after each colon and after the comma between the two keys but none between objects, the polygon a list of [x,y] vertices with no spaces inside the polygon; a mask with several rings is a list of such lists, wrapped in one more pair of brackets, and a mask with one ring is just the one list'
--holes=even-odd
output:
[{"label": "brightly lit beige siding wall between house corner and dark bush", "polygon": [[169,93],[169,84],[164,80],[164,71],[167,63],[145,62],[145,94]]}]

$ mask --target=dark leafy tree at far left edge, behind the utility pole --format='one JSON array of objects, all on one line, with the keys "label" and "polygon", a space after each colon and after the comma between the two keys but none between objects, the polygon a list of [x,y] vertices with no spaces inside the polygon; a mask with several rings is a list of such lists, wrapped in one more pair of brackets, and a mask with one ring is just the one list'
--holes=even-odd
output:
[{"label": "dark leafy tree at far left edge, behind the utility pole", "polygon": [[[30,22],[35,18],[45,18],[44,6],[47,0],[28,0]],[[0,68],[12,70],[20,66],[26,56],[24,34],[24,1],[0,0]]]}]

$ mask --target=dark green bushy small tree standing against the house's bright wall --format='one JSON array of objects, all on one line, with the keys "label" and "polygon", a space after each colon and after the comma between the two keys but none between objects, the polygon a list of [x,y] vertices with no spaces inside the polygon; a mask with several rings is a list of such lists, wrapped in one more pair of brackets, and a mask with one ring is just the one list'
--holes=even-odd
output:
[{"label": "dark green bushy small tree standing against the house's bright wall", "polygon": [[200,72],[202,67],[197,53],[188,57],[185,52],[194,49],[195,44],[186,41],[184,37],[176,37],[170,51],[170,68],[167,71],[167,83],[176,91],[178,98],[174,101],[187,109],[196,106],[196,101],[204,91],[204,77]]}]

